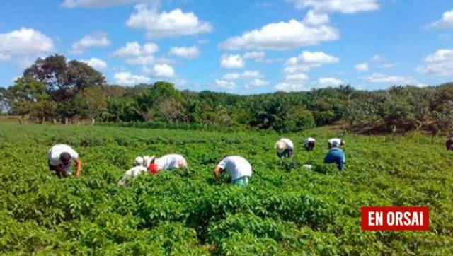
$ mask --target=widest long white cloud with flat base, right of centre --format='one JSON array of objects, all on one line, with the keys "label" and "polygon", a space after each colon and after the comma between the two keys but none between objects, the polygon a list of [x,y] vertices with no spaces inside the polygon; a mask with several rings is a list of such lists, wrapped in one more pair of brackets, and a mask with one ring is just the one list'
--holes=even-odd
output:
[{"label": "widest long white cloud with flat base, right of centre", "polygon": [[303,22],[270,23],[259,30],[251,30],[241,36],[231,37],[220,47],[226,50],[289,50],[319,42],[337,40],[340,34],[328,25],[311,27]]}]

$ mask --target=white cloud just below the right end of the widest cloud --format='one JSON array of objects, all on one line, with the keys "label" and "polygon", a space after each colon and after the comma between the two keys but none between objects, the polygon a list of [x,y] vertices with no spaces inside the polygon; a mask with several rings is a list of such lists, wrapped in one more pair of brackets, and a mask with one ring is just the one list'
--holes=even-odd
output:
[{"label": "white cloud just below the right end of the widest cloud", "polygon": [[283,72],[285,74],[306,72],[309,71],[311,67],[321,66],[322,64],[333,64],[339,61],[340,59],[338,59],[338,57],[324,52],[304,51],[297,57],[289,58],[285,63]]}]

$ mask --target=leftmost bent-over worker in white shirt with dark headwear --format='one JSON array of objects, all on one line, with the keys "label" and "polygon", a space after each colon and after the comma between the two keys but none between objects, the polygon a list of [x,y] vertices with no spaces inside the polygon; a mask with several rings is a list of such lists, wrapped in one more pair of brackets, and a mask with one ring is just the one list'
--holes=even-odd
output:
[{"label": "leftmost bent-over worker in white shirt with dark headwear", "polygon": [[82,162],[79,159],[79,153],[74,151],[70,146],[58,144],[52,146],[48,153],[49,168],[55,170],[59,178],[72,175],[72,162],[76,162],[76,177],[79,177],[82,170]]}]

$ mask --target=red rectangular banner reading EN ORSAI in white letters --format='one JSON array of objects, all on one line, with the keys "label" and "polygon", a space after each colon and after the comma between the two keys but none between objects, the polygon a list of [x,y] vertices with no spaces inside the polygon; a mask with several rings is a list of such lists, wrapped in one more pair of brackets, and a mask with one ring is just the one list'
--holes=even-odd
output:
[{"label": "red rectangular banner reading EN ORSAI in white letters", "polygon": [[364,206],[360,210],[362,231],[428,231],[428,206]]}]

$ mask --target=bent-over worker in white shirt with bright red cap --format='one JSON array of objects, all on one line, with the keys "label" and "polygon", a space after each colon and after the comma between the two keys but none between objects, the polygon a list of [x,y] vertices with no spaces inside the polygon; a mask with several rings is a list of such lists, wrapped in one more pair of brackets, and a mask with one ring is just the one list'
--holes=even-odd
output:
[{"label": "bent-over worker in white shirt with bright red cap", "polygon": [[135,166],[142,166],[151,174],[158,174],[159,170],[173,170],[176,168],[187,168],[187,161],[176,153],[155,158],[155,156],[139,156],[135,158]]}]

